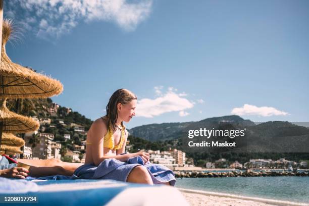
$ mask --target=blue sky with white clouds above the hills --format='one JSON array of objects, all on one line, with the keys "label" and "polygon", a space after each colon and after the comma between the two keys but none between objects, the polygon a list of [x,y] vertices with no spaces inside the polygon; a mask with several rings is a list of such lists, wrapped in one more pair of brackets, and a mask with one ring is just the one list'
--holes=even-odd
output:
[{"label": "blue sky with white clouds above the hills", "polygon": [[91,120],[137,95],[128,128],[239,115],[309,122],[308,1],[4,1],[15,63],[60,80]]}]

